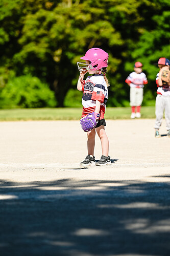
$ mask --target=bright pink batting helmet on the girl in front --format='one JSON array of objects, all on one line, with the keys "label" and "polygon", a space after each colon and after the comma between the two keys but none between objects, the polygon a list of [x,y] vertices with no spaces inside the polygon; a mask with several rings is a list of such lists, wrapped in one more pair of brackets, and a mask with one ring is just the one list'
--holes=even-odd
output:
[{"label": "bright pink batting helmet on the girl in front", "polygon": [[108,66],[109,55],[100,48],[91,48],[81,57],[83,60],[91,61],[92,70],[99,70]]}]

